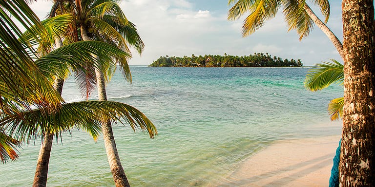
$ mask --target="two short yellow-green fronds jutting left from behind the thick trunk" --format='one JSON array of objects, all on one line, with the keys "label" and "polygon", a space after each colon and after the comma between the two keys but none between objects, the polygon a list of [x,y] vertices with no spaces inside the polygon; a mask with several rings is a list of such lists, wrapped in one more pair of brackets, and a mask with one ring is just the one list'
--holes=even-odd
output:
[{"label": "two short yellow-green fronds jutting left from behind the thick trunk", "polygon": [[[333,83],[343,85],[344,82],[344,65],[337,60],[331,59],[332,62],[316,64],[308,71],[305,79],[305,87],[311,91],[318,91],[327,88]],[[328,104],[328,113],[331,120],[342,118],[342,108],[344,106],[344,97],[331,100]]]}]

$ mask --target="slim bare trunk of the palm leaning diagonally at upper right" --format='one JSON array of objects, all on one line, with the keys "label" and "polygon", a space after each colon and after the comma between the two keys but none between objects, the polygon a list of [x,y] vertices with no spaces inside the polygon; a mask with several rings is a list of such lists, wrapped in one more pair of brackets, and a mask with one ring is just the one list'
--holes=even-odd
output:
[{"label": "slim bare trunk of the palm leaning diagonally at upper right", "polygon": [[309,5],[305,3],[303,8],[305,9],[306,13],[310,16],[312,21],[314,21],[314,23],[320,28],[320,30],[322,30],[323,33],[326,34],[328,38],[330,38],[334,47],[336,47],[336,50],[340,54],[342,60],[344,60],[345,56],[341,41],[333,34],[331,29],[328,28],[327,25],[315,15],[315,13],[312,11]]}]

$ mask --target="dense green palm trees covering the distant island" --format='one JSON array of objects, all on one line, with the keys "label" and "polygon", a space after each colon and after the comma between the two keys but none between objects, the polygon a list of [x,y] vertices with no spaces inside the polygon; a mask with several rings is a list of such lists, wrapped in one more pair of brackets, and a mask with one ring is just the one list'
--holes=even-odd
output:
[{"label": "dense green palm trees covering the distant island", "polygon": [[205,55],[205,56],[160,56],[149,66],[153,67],[301,67],[300,59],[284,60],[268,53],[249,56]]}]

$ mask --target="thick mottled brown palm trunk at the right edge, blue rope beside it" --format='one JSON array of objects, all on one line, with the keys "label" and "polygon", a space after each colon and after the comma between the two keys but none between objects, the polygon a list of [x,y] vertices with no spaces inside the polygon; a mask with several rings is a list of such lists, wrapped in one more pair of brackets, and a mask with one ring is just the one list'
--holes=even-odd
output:
[{"label": "thick mottled brown palm trunk at the right edge, blue rope beside it", "polygon": [[375,28],[373,0],[343,0],[342,187],[375,184]]}]

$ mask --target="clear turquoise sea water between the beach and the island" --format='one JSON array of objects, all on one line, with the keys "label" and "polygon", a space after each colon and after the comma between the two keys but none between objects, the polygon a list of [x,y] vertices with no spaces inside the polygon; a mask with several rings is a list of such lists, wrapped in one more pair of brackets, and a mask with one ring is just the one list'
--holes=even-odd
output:
[{"label": "clear turquoise sea water between the beach and the island", "polygon": [[[340,134],[341,122],[329,120],[327,104],[342,96],[343,88],[307,91],[307,71],[133,66],[132,84],[117,73],[108,99],[138,108],[159,132],[151,140],[128,126],[114,127],[130,184],[206,187],[275,140]],[[69,78],[63,90],[67,102],[81,100],[76,88]],[[39,145],[24,145],[18,161],[0,165],[1,186],[31,186]],[[47,186],[113,186],[102,139],[94,142],[83,131],[62,134],[52,148]]]}]

